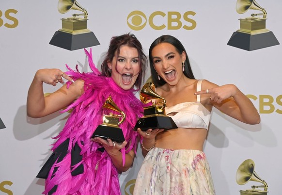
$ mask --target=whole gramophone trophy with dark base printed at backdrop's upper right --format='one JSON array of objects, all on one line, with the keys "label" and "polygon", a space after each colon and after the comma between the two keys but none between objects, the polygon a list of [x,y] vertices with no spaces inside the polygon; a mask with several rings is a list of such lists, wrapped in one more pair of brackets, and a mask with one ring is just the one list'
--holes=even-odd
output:
[{"label": "whole gramophone trophy with dark base printed at backdrop's upper right", "polygon": [[265,8],[255,0],[237,0],[236,12],[238,14],[244,14],[248,10],[258,10],[261,13],[239,19],[240,29],[232,34],[227,45],[248,51],[279,45],[280,43],[274,34],[266,29],[267,13]]}]

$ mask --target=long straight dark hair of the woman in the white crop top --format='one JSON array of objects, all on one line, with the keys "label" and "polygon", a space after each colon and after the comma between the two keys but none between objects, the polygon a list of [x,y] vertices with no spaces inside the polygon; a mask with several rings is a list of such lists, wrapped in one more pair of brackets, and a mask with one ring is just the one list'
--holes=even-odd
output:
[{"label": "long straight dark hair of the woman in the white crop top", "polygon": [[161,77],[160,77],[160,81],[158,80],[157,78],[157,72],[154,68],[154,64],[153,64],[153,58],[152,58],[152,50],[158,45],[158,44],[161,44],[161,43],[169,43],[169,44],[172,44],[175,49],[177,50],[177,52],[181,55],[182,52],[184,51],[185,54],[186,54],[186,60],[184,62],[184,67],[185,67],[185,71],[184,71],[184,75],[186,77],[188,77],[189,79],[195,79],[194,75],[193,75],[193,72],[192,72],[192,69],[191,69],[191,65],[190,65],[190,62],[189,62],[189,59],[188,59],[188,55],[187,55],[187,52],[184,48],[184,46],[182,45],[182,43],[177,39],[175,38],[174,36],[172,35],[162,35],[160,37],[158,37],[150,46],[150,49],[149,49],[149,60],[150,60],[150,68],[151,68],[151,74],[152,74],[152,80],[154,82],[154,84],[156,86],[162,86],[166,83],[166,81],[164,81]]}]

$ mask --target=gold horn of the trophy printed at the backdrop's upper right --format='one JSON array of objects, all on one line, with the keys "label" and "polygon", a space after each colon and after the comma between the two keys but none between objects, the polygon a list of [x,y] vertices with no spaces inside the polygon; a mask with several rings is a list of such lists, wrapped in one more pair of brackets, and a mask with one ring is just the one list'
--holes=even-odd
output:
[{"label": "gold horn of the trophy printed at the backdrop's upper right", "polygon": [[267,13],[265,8],[261,7],[255,0],[237,0],[236,11],[238,14],[244,14],[248,10],[259,10],[263,12],[260,14],[251,14],[252,17],[263,15],[266,18]]}]

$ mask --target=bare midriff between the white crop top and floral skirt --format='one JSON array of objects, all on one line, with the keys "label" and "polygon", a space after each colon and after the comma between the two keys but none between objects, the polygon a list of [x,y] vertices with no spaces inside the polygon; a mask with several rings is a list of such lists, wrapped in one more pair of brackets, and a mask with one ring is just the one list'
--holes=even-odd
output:
[{"label": "bare midriff between the white crop top and floral skirt", "polygon": [[156,136],[156,147],[165,149],[194,149],[203,151],[205,129],[178,128],[165,130]]}]

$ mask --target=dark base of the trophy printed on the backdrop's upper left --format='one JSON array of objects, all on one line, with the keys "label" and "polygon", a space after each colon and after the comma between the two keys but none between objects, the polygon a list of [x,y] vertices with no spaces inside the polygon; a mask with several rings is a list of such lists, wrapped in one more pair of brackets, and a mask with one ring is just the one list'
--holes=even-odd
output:
[{"label": "dark base of the trophy printed on the backdrop's upper left", "polygon": [[100,45],[93,32],[71,34],[62,31],[56,31],[49,44],[68,50],[84,49]]}]

